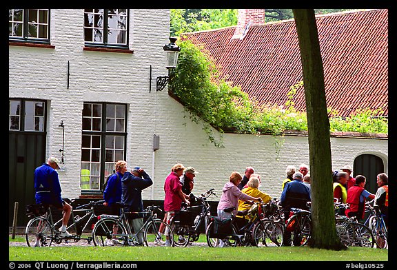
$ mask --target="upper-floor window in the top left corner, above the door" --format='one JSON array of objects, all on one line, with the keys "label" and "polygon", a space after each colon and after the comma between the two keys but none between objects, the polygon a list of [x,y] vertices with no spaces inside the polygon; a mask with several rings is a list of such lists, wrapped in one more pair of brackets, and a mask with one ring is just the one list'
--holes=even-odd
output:
[{"label": "upper-floor window in the top left corner, above the door", "polygon": [[19,41],[50,41],[50,10],[8,10],[8,37]]}]

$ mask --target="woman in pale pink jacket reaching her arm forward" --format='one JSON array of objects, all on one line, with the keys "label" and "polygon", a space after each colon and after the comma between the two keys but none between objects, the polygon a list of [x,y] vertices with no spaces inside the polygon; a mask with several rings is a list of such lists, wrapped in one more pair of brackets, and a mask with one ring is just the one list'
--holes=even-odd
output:
[{"label": "woman in pale pink jacket reaching her arm forward", "polygon": [[223,186],[221,200],[218,203],[218,217],[221,219],[230,218],[232,214],[230,212],[225,212],[224,209],[227,207],[235,207],[232,211],[234,216],[237,214],[238,200],[254,200],[260,202],[261,198],[255,198],[247,194],[243,194],[237,185],[241,182],[243,176],[238,172],[232,172],[230,174],[229,182]]}]

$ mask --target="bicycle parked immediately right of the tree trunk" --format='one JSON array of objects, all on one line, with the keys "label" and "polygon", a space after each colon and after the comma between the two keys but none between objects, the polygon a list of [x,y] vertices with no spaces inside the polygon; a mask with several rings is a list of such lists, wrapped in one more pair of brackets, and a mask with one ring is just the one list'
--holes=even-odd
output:
[{"label": "bicycle parked immediately right of the tree trunk", "polygon": [[[343,203],[335,203],[337,209],[343,209],[346,207]],[[336,233],[343,243],[343,245],[349,247],[374,247],[374,235],[366,225],[358,222],[354,216],[348,218],[336,214]]]}]

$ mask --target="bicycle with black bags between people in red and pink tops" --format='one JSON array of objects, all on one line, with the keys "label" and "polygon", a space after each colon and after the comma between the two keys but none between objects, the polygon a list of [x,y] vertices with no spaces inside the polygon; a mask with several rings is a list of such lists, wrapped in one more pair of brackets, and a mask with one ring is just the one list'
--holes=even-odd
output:
[{"label": "bicycle with black bags between people in red and pink tops", "polygon": [[[194,196],[200,205],[182,207],[181,211],[176,212],[170,225],[174,234],[178,236],[174,246],[187,247],[190,243],[199,240],[201,226],[203,225],[204,228],[207,228],[208,220],[211,216],[210,204],[207,201],[210,196],[216,196],[214,189],[205,191],[200,197]],[[201,211],[199,215],[196,215],[197,212],[194,210],[200,207]]]}]

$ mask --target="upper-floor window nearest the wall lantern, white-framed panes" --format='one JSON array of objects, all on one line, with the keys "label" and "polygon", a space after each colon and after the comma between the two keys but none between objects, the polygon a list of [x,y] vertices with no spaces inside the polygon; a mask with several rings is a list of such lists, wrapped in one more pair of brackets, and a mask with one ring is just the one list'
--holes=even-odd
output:
[{"label": "upper-floor window nearest the wall lantern, white-framed panes", "polygon": [[127,9],[85,9],[86,45],[128,46]]}]

